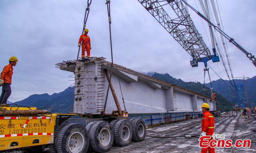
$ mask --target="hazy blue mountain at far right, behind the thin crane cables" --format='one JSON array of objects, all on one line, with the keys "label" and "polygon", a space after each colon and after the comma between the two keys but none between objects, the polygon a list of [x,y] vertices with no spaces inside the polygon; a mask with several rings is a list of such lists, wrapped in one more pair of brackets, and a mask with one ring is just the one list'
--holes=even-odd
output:
[{"label": "hazy blue mountain at far right, behind the thin crane cables", "polygon": [[[234,79],[234,81],[236,85],[244,85],[243,79]],[[231,101],[233,104],[235,104],[236,103],[236,94],[234,92],[235,88],[232,87],[230,81],[224,80],[224,82],[221,79],[212,81],[213,90],[219,92],[221,95],[223,95],[223,97],[225,97],[226,99]],[[231,82],[232,84],[234,84],[233,81]],[[254,96],[256,95],[255,85],[256,85],[256,76],[245,80],[248,103],[250,106],[253,106],[253,104],[254,106],[256,105],[256,99],[254,98]],[[206,84],[206,86],[210,87],[211,85],[208,83]],[[230,86],[230,88],[233,89],[233,91],[228,86]]]}]

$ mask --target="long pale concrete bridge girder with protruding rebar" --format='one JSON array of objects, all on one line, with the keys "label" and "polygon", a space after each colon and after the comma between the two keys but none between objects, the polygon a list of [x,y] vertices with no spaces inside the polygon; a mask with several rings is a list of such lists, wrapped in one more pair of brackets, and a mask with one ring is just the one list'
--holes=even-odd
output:
[{"label": "long pale concrete bridge girder with protruding rebar", "polygon": [[[210,110],[216,110],[215,101],[211,98],[122,66],[114,66],[111,82],[122,110],[125,103],[128,113],[200,112],[200,106],[204,102],[210,105]],[[92,57],[91,61],[77,62],[76,65],[63,66],[60,69],[75,73],[74,113],[100,114],[108,88],[104,69],[110,74],[111,64]],[[80,84],[77,84],[78,81]],[[114,110],[117,108],[109,90],[105,113],[111,114]]]}]

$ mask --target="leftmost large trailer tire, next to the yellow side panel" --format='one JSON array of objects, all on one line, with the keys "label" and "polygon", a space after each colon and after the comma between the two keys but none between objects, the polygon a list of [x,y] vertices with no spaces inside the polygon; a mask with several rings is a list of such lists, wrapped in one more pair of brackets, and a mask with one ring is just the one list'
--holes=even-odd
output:
[{"label": "leftmost large trailer tire, next to the yellow side panel", "polygon": [[58,133],[57,153],[84,153],[88,149],[88,132],[83,125],[72,123],[65,125]]}]

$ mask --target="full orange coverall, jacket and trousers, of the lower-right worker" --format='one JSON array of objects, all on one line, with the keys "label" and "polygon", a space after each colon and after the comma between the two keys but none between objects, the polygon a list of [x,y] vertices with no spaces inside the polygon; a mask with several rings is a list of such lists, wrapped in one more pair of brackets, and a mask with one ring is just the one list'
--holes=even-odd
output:
[{"label": "full orange coverall, jacket and trousers, of the lower-right worker", "polygon": [[[214,117],[209,111],[203,113],[203,120],[202,120],[202,131],[206,132],[206,135],[213,135],[214,133]],[[212,140],[212,137],[211,137]],[[210,140],[210,141],[211,141]],[[211,147],[202,148],[201,153],[215,153],[215,149]]]}]

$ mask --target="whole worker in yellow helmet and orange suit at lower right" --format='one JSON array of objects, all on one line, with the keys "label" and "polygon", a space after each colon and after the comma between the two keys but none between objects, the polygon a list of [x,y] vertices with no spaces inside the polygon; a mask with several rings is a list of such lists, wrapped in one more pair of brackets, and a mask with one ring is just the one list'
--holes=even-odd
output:
[{"label": "whole worker in yellow helmet and orange suit at lower right", "polygon": [[[213,135],[214,133],[214,117],[209,112],[210,106],[207,103],[204,103],[202,106],[202,112],[203,112],[203,120],[202,120],[202,134],[201,136],[205,135]],[[209,141],[212,140],[212,137]],[[215,149],[211,147],[202,148],[201,153],[215,153]]]}]

